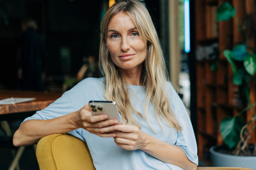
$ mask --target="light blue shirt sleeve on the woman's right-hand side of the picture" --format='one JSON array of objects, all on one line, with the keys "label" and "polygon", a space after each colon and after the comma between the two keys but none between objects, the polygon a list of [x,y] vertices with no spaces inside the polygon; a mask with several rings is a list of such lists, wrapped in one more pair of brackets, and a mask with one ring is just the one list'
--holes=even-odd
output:
[{"label": "light blue shirt sleeve on the woman's right-hand side of the picture", "polygon": [[177,132],[177,141],[175,146],[179,146],[186,153],[187,157],[191,162],[198,165],[198,155],[195,133],[191,124],[191,120],[187,113],[186,107],[184,106],[179,95],[173,89],[171,85],[170,100],[173,113],[176,115],[182,131]]}]

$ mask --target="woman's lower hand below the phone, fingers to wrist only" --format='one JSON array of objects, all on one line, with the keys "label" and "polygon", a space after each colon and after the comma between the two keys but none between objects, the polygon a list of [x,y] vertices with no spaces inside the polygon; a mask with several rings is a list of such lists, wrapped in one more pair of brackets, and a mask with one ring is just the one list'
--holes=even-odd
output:
[{"label": "woman's lower hand below the phone, fingers to wrist only", "polygon": [[117,125],[115,134],[116,145],[125,150],[143,150],[145,148],[147,134],[135,125]]}]

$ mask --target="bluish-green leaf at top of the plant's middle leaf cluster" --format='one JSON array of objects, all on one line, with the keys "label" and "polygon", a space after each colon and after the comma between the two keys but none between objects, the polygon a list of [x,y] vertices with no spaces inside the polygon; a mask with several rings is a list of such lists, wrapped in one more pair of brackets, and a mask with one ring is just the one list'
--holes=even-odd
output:
[{"label": "bluish-green leaf at top of the plant's middle leaf cluster", "polygon": [[233,48],[230,57],[234,60],[243,61],[248,56],[245,45],[237,45]]}]

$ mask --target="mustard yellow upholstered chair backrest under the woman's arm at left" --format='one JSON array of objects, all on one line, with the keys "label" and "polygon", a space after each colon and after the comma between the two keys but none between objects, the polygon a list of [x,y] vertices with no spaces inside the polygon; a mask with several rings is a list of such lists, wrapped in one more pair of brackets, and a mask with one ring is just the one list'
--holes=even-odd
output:
[{"label": "mustard yellow upholstered chair backrest under the woman's arm at left", "polygon": [[86,143],[69,134],[52,134],[40,139],[36,159],[40,170],[95,170]]}]

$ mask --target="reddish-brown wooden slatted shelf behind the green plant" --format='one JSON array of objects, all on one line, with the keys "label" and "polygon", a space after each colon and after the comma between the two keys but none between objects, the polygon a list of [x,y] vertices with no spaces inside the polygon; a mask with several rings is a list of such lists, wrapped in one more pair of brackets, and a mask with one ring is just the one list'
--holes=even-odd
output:
[{"label": "reddish-brown wooden slatted shelf behind the green plant", "polygon": [[[236,8],[236,17],[239,22],[244,15],[256,11],[255,1],[237,0],[196,0],[196,48],[211,46],[218,43],[220,57],[217,61],[218,70],[211,70],[211,60],[196,62],[196,89],[197,89],[197,142],[200,159],[209,159],[207,149],[210,145],[223,144],[220,134],[220,122],[224,117],[236,115],[241,108],[234,104],[236,86],[233,85],[233,71],[223,50],[232,49],[242,37],[237,31],[235,20],[216,22],[216,9],[220,4],[227,2]],[[249,39],[250,46],[255,46],[255,35]],[[200,57],[198,57],[200,58]],[[202,57],[201,57],[202,58]],[[207,58],[207,57],[206,57]],[[256,102],[256,87],[250,87],[250,98]],[[248,122],[255,110],[244,114]],[[252,141],[255,141],[256,132]]]}]

